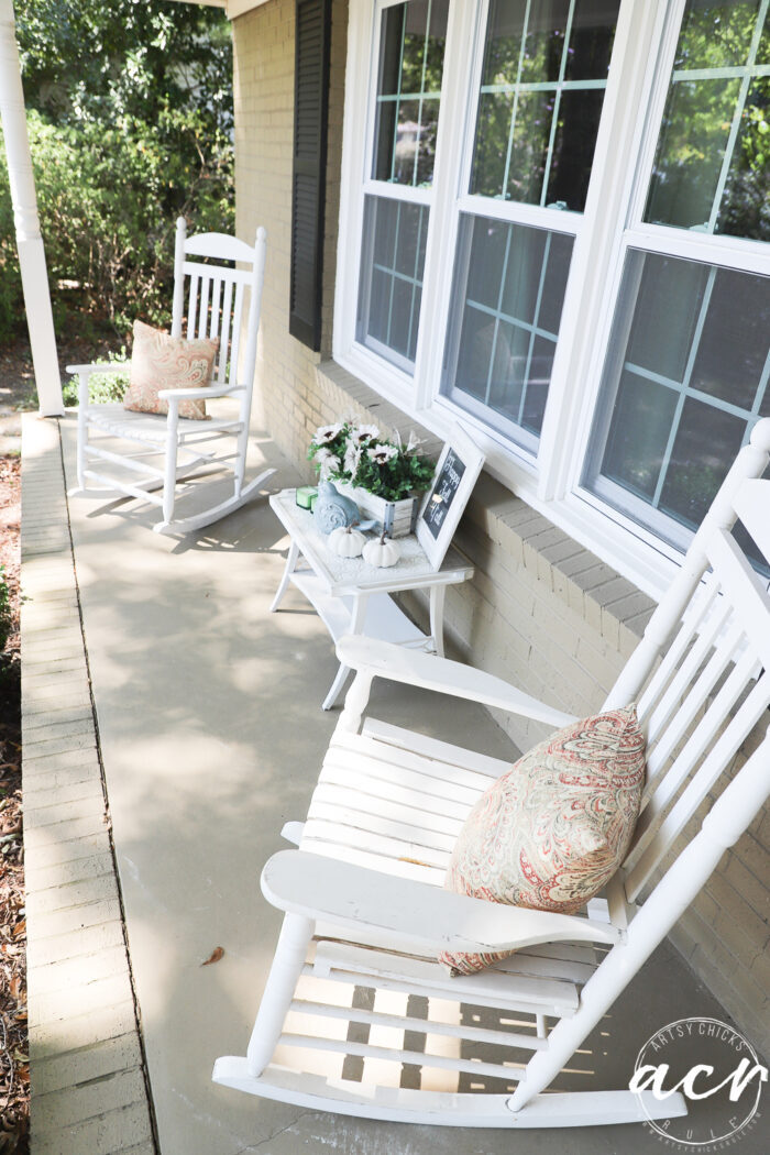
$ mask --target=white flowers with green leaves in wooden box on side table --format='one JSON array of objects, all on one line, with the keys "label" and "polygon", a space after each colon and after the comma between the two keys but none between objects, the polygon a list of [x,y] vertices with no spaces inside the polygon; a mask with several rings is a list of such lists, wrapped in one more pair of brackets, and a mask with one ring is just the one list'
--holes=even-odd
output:
[{"label": "white flowers with green leaves in wooden box on side table", "polygon": [[404,446],[398,435],[383,438],[376,425],[321,425],[307,456],[321,480],[344,482],[386,501],[421,493],[433,479],[434,463],[423,456],[413,434]]}]

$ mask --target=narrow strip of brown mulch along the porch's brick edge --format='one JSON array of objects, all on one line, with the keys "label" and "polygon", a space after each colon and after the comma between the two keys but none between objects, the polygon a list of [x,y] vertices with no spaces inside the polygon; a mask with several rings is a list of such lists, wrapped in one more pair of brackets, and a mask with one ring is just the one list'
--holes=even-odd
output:
[{"label": "narrow strip of brown mulch along the porch's brick edge", "polygon": [[29,1152],[27,923],[22,845],[21,460],[0,457],[0,565],[10,633],[0,654],[0,1153]]}]

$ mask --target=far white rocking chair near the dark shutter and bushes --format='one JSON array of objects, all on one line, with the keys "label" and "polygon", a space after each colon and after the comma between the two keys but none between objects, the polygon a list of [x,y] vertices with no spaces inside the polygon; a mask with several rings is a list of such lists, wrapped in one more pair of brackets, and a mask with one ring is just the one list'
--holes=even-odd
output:
[{"label": "far white rocking chair near the dark shutter and bushes", "polygon": [[[185,218],[179,217],[171,334],[182,336],[187,297],[184,335],[219,337],[219,353],[211,385],[205,388],[162,390],[159,397],[169,403],[167,416],[137,413],[124,409],[120,403],[92,404],[89,400],[90,377],[94,373],[125,373],[129,367],[126,363],[68,365],[67,372],[76,373],[80,379],[77,487],[70,494],[83,493],[89,482],[97,482],[111,493],[124,493],[160,506],[163,520],[152,527],[157,532],[185,534],[202,529],[238,509],[275,472],[274,469],[267,469],[248,485],[244,485],[266,245],[264,229],[257,229],[254,248],[224,233],[205,232],[188,238]],[[192,259],[196,256],[209,261]],[[212,263],[211,259],[222,262],[238,261],[241,267],[236,268],[234,263]],[[248,312],[244,308],[246,290],[251,290]],[[244,357],[239,370],[239,353],[244,341]],[[187,397],[196,401],[233,397],[238,401],[238,416],[214,417],[205,422],[180,418],[179,402]],[[92,438],[92,434],[96,437]],[[119,442],[130,442],[130,450],[119,452],[112,444],[115,439]],[[211,442],[225,439],[230,442],[229,452],[211,452]],[[232,495],[193,516],[174,521],[178,483],[201,467],[210,465],[215,465],[217,470],[225,468],[232,471]],[[152,492],[158,489],[163,489],[162,495]]]}]

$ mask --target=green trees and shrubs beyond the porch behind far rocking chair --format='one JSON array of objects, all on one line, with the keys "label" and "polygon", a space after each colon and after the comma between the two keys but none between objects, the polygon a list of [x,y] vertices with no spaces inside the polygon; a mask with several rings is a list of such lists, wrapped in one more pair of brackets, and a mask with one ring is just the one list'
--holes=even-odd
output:
[{"label": "green trees and shrubs beyond the porch behind far rocking chair", "polygon": [[[57,326],[164,322],[177,216],[233,225],[230,24],[164,0],[17,0],[16,22]],[[0,172],[0,340],[22,315]]]}]

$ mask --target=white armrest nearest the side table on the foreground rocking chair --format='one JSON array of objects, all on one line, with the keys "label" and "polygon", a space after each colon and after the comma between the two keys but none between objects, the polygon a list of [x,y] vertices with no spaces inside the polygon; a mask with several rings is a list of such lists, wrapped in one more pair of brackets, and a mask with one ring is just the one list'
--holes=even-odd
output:
[{"label": "white armrest nearest the side table on the foreground rocking chair", "polygon": [[571,714],[547,706],[502,678],[472,665],[394,646],[393,642],[382,642],[362,634],[345,634],[337,642],[337,657],[351,670],[483,702],[548,725],[563,726],[576,721]]}]

